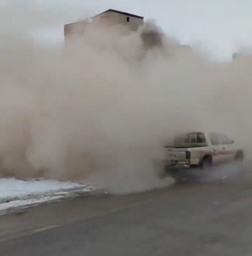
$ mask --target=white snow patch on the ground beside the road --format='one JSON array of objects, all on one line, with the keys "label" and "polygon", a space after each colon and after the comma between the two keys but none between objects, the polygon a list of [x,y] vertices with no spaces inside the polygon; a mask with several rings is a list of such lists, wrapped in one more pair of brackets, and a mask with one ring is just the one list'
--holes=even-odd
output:
[{"label": "white snow patch on the ground beside the road", "polygon": [[0,211],[40,204],[93,189],[75,182],[3,178],[0,179]]}]

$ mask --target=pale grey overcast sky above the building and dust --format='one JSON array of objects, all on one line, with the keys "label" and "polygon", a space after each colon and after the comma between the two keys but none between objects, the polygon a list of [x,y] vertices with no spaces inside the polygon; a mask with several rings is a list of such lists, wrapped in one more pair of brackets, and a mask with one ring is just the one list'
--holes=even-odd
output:
[{"label": "pale grey overcast sky above the building and dust", "polygon": [[[183,44],[197,45],[214,58],[228,59],[233,52],[252,44],[252,1],[250,0],[37,0],[41,6],[69,13],[64,23],[75,22],[117,9],[154,19],[165,33]],[[62,24],[63,25],[63,24]],[[62,26],[41,34],[63,40]]]}]

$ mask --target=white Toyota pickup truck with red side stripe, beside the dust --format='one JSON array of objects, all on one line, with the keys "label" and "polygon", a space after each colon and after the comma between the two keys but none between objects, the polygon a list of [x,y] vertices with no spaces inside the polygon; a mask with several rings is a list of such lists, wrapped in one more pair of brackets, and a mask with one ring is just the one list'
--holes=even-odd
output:
[{"label": "white Toyota pickup truck with red side stripe, beside the dust", "polygon": [[177,136],[166,146],[165,173],[177,177],[178,170],[200,167],[209,171],[211,165],[242,161],[244,151],[223,133],[189,132]]}]

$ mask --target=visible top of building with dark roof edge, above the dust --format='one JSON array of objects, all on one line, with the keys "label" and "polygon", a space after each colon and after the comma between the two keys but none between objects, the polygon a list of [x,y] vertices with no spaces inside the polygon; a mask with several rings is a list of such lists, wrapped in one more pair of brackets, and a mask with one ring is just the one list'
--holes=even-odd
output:
[{"label": "visible top of building with dark roof edge, above the dust", "polygon": [[144,22],[144,17],[138,16],[135,14],[120,12],[117,10],[109,9],[103,13],[95,15],[94,17],[81,20],[79,22],[66,24],[64,26],[64,37],[65,40],[67,37],[72,35],[83,35],[85,27],[91,22],[102,22],[103,25],[113,26],[116,24],[121,24],[127,26],[130,30],[135,31],[141,26]]}]

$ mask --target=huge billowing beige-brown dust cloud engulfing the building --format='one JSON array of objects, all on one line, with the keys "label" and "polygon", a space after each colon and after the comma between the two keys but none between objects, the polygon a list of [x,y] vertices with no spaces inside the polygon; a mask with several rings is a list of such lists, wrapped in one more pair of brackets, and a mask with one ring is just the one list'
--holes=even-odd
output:
[{"label": "huge billowing beige-brown dust cloud engulfing the building", "polygon": [[[224,131],[251,152],[251,61],[210,61],[151,21],[132,33],[90,25],[65,49],[48,48],[29,35],[49,14],[23,6],[14,15],[6,6],[2,176],[84,180],[128,193],[172,182],[157,173],[177,132]],[[160,36],[158,45],[144,43],[147,32]]]}]

